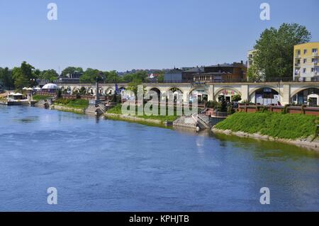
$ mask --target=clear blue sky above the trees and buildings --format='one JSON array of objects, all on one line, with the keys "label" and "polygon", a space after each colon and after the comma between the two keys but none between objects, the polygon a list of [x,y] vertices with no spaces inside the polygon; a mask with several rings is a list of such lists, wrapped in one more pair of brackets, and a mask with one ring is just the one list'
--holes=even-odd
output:
[{"label": "clear blue sky above the trees and buildings", "polygon": [[[57,4],[57,21],[47,4]],[[259,6],[271,6],[271,20]],[[246,60],[265,28],[319,41],[318,0],[0,0],[0,67],[162,69]]]}]

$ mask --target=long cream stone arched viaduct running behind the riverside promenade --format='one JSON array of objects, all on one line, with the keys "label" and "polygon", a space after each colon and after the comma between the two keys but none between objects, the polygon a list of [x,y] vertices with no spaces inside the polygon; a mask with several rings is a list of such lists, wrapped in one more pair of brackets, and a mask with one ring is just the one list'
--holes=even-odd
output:
[{"label": "long cream stone arched viaduct running behind the riverside promenade", "polygon": [[[128,84],[117,84],[118,89],[126,89]],[[198,91],[206,94],[208,100],[216,100],[218,96],[225,92],[239,94],[242,101],[254,102],[255,93],[260,89],[272,89],[279,94],[279,100],[282,104],[291,103],[291,98],[298,92],[305,89],[319,89],[319,81],[309,82],[262,82],[262,83],[172,83],[172,84],[143,84],[146,91],[154,90],[165,93],[172,89],[179,89],[186,100],[192,91]],[[58,84],[60,89],[68,89],[72,94],[85,89],[86,94],[96,94],[95,84]],[[116,90],[116,84],[99,84],[100,94],[113,94]]]}]

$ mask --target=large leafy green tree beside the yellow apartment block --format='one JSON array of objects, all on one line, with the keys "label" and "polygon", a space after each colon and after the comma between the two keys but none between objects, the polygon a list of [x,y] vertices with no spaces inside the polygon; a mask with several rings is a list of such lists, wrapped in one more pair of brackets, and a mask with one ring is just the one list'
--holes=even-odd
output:
[{"label": "large leafy green tree beside the yellow apartment block", "polygon": [[[267,28],[254,45],[253,62],[265,79],[280,79],[293,74],[293,46],[308,43],[311,34],[305,26],[283,23],[276,28]],[[257,73],[257,74],[258,74]]]}]

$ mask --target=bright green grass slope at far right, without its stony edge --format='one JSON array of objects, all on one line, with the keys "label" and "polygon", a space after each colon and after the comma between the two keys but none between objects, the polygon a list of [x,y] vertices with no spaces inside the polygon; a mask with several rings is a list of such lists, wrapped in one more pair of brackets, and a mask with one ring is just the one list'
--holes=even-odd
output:
[{"label": "bright green grass slope at far right, without its stony edge", "polygon": [[317,137],[319,117],[283,113],[235,113],[216,125],[219,130],[260,133],[271,137],[296,140]]}]

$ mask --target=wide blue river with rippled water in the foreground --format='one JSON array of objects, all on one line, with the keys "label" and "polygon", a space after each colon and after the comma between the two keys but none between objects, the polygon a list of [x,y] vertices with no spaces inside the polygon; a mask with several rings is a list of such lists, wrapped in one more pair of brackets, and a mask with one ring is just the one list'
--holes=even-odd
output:
[{"label": "wide blue river with rippled water in the foreground", "polygon": [[0,162],[0,211],[319,211],[318,152],[208,131],[0,106]]}]

